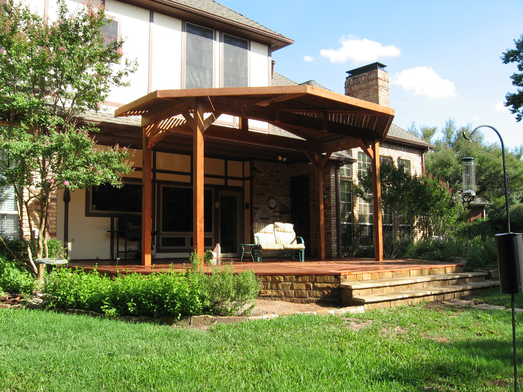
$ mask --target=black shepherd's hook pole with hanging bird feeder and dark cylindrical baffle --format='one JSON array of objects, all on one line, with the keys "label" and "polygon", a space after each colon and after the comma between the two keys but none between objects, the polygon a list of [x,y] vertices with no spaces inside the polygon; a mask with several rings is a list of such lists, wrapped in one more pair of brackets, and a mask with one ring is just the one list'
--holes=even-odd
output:
[{"label": "black shepherd's hook pole with hanging bird feeder and dark cylindrical baffle", "polygon": [[[503,175],[505,177],[505,208],[507,210],[508,232],[496,234],[497,263],[499,267],[499,286],[502,294],[510,294],[512,304],[512,348],[514,354],[514,391],[518,390],[518,372],[516,356],[516,318],[514,310],[514,294],[519,294],[523,289],[523,240],[522,234],[510,233],[510,212],[508,209],[508,174],[505,162],[505,145],[499,132],[491,125],[476,126],[469,137],[463,131],[463,138],[471,140],[472,135],[480,128],[490,128],[499,136],[501,153],[503,156]],[[465,197],[474,197],[476,194],[476,181],[474,171],[474,158],[463,158],[463,200]]]}]

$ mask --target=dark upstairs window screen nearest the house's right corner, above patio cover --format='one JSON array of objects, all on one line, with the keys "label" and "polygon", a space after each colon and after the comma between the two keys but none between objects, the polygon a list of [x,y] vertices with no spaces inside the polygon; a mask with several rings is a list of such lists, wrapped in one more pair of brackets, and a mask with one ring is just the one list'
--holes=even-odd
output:
[{"label": "dark upstairs window screen nearest the house's right corner, above patio cover", "polygon": [[248,42],[223,34],[223,87],[247,87]]}]

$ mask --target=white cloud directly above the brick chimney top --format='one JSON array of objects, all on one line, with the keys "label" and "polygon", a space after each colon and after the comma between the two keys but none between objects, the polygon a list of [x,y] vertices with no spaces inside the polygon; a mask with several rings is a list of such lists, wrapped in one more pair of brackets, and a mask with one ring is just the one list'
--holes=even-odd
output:
[{"label": "white cloud directly above the brick chimney top", "polygon": [[322,49],[320,54],[331,63],[344,63],[353,60],[357,63],[372,63],[378,61],[379,57],[397,57],[401,51],[394,45],[384,47],[379,42],[368,39],[359,39],[354,36],[342,37],[342,47],[339,49]]}]

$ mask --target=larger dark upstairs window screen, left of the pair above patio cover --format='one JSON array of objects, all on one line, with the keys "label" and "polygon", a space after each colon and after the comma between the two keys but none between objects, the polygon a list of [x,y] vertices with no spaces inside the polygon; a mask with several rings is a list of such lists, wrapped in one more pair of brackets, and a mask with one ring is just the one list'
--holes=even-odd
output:
[{"label": "larger dark upstairs window screen, left of the pair above patio cover", "polygon": [[185,88],[212,88],[214,31],[186,25]]}]

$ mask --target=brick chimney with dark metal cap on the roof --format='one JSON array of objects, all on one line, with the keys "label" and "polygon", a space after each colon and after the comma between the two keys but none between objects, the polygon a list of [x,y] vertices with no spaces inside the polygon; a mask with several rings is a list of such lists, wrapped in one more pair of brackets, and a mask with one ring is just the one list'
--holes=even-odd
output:
[{"label": "brick chimney with dark metal cap on the roof", "polygon": [[389,73],[386,65],[373,63],[347,71],[345,95],[363,99],[382,106],[389,104]]}]

